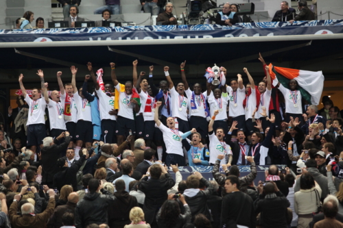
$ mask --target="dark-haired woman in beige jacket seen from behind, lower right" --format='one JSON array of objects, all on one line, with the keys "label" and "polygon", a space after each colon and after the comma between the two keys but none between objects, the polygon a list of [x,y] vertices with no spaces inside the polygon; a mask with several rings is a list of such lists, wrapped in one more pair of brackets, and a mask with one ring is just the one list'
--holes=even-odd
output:
[{"label": "dark-haired woman in beige jacket seen from behind, lower right", "polygon": [[314,218],[313,212],[318,212],[322,189],[314,177],[303,168],[300,176],[300,191],[294,194],[294,210],[298,214],[298,228],[308,228]]}]

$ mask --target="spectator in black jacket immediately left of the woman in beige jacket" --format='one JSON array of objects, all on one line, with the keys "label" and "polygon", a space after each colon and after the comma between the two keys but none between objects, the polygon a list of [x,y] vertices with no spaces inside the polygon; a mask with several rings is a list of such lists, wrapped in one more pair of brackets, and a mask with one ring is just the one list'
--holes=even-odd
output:
[{"label": "spectator in black jacket immediately left of the woman in beige jacket", "polygon": [[286,210],[290,203],[280,192],[276,183],[270,181],[265,183],[265,186],[260,183],[257,189],[259,199],[255,201],[255,211],[256,214],[261,212],[263,228],[287,228]]}]

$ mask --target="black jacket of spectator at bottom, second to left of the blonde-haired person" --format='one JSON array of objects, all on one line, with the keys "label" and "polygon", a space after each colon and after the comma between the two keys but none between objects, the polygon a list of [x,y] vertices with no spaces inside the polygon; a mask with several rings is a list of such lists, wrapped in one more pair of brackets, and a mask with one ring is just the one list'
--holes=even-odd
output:
[{"label": "black jacket of spectator at bottom, second to left of the blonde-haired person", "polygon": [[108,205],[115,201],[115,196],[106,190],[102,190],[102,193],[88,192],[84,194],[84,198],[75,207],[75,227],[86,228],[93,223],[108,224]]}]

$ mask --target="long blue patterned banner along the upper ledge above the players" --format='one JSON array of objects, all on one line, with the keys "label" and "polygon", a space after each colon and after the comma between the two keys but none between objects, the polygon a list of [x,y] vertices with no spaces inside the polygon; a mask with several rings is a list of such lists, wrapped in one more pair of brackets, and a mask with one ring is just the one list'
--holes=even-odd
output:
[{"label": "long blue patterned banner along the upper ledge above the players", "polygon": [[[343,34],[343,20],[238,23],[226,25],[152,25],[51,29],[0,29],[0,42],[82,40],[161,40]],[[114,44],[115,45],[115,44]]]}]

